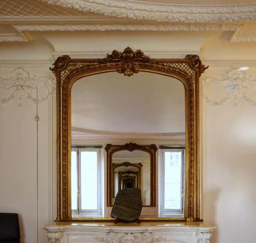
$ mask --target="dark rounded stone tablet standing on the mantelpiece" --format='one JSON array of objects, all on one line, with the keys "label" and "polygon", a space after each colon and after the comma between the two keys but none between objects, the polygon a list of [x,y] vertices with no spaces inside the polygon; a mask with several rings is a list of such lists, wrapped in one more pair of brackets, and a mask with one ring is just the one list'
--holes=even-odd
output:
[{"label": "dark rounded stone tablet standing on the mantelpiece", "polygon": [[116,195],[111,217],[130,222],[139,218],[142,209],[141,191],[125,188]]}]

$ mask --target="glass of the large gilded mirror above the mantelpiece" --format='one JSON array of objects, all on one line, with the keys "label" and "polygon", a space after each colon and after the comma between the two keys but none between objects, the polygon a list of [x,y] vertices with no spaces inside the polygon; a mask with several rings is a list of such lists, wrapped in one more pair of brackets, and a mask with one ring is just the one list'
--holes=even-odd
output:
[{"label": "glass of the large gilded mirror above the mantelpiece", "polygon": [[[167,156],[161,155],[164,151],[161,148],[167,146],[166,153],[170,152],[167,150],[171,145],[182,145],[184,148],[185,124],[185,89],[183,83],[176,78],[142,71],[130,77],[109,72],[87,76],[73,83],[72,216],[110,217],[112,207],[106,206],[108,173],[113,175],[112,184],[110,183],[113,188],[110,195],[112,202],[122,188],[137,187],[142,191],[143,206],[147,206],[142,208],[142,217],[174,215],[178,210],[181,212],[181,187],[185,170],[183,172],[183,163],[180,160],[183,157],[180,156],[179,161],[172,161],[174,156],[168,155],[167,160]],[[155,178],[150,177],[150,155],[144,151],[114,153],[114,167],[107,171],[105,145],[124,145],[130,142],[160,146],[156,152]],[[178,151],[177,147],[175,148]],[[122,163],[126,164],[119,166]],[[165,177],[165,174],[168,176]],[[161,180],[158,175],[162,177]],[[157,203],[156,207],[149,207],[153,179],[156,181],[154,190]],[[177,195],[179,200],[178,204],[175,204],[173,201]],[[164,205],[169,205],[169,208],[160,212],[157,205],[161,204],[161,200],[164,201]],[[174,204],[176,208],[170,206]]]}]

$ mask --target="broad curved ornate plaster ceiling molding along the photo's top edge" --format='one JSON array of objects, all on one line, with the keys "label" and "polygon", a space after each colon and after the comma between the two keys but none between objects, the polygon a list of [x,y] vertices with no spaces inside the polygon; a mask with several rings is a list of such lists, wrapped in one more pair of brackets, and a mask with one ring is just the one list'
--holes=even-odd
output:
[{"label": "broad curved ornate plaster ceiling molding along the photo's top edge", "polygon": [[186,5],[135,0],[41,0],[84,12],[137,20],[226,23],[256,20],[256,4]]}]

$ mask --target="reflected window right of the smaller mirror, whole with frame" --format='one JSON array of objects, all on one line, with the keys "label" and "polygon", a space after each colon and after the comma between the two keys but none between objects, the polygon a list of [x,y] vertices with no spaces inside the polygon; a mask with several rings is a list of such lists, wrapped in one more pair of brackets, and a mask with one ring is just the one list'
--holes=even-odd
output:
[{"label": "reflected window right of the smaller mirror, whole with frame", "polygon": [[160,149],[161,216],[184,214],[185,149]]}]

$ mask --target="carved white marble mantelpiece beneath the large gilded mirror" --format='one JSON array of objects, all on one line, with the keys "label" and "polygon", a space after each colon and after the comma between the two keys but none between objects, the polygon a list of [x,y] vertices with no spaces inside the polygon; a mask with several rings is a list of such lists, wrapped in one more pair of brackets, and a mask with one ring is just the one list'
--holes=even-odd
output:
[{"label": "carved white marble mantelpiece beneath the large gilded mirror", "polygon": [[48,243],[210,243],[204,222],[53,222],[43,226]]}]

